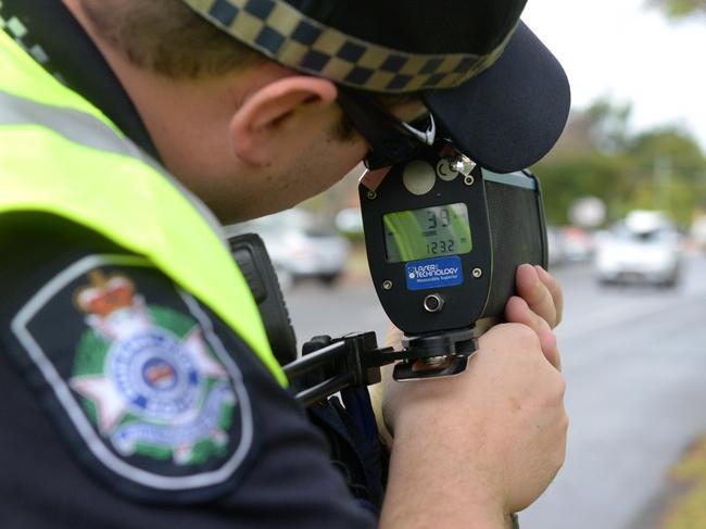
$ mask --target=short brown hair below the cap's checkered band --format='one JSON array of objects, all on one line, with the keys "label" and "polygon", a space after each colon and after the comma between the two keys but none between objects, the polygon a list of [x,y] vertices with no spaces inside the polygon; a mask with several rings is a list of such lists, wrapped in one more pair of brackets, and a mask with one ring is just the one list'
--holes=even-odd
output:
[{"label": "short brown hair below the cap's checkered band", "polygon": [[81,0],[81,7],[101,38],[166,77],[218,76],[266,60],[177,0]]}]

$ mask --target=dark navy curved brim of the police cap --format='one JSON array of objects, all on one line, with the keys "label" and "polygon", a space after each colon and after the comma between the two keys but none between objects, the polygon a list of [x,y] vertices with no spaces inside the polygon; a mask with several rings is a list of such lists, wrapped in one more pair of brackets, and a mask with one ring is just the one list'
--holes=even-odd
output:
[{"label": "dark navy curved brim of the police cap", "polygon": [[492,66],[424,99],[440,133],[497,173],[542,159],[562,135],[571,102],[564,68],[522,22]]}]

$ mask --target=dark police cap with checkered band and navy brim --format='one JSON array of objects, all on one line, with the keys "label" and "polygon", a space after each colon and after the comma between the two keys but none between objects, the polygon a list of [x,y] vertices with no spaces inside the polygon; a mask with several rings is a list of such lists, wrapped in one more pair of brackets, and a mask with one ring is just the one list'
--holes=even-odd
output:
[{"label": "dark police cap with checkered band and navy brim", "polygon": [[441,130],[496,172],[558,139],[564,70],[519,20],[527,0],[182,0],[293,70],[352,88],[417,92]]}]

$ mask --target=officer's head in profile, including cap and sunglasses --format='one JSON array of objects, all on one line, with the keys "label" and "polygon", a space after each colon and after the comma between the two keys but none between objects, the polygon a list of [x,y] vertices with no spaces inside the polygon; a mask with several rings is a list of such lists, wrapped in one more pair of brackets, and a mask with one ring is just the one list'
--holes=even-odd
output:
[{"label": "officer's head in profile, including cap and sunglasses", "polygon": [[[437,134],[497,172],[560,134],[566,77],[526,0],[65,0],[166,165],[224,219],[291,206]],[[75,10],[76,11],[76,10]]]}]

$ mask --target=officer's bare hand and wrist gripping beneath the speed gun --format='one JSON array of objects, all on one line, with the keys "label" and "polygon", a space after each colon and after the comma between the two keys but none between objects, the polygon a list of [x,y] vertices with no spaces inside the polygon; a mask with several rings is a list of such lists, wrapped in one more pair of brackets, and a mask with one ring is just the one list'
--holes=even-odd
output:
[{"label": "officer's bare hand and wrist gripping beneath the speed gun", "polygon": [[382,527],[506,527],[504,516],[532,503],[564,462],[564,389],[521,324],[483,335],[458,377],[388,385],[394,445]]}]

